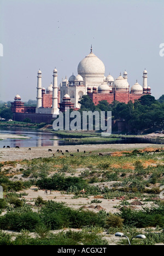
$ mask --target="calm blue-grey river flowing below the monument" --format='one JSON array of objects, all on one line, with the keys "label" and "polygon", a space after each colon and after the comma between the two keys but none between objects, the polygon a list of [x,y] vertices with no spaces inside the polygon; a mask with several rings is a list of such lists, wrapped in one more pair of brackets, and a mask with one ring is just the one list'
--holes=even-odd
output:
[{"label": "calm blue-grey river flowing below the monument", "polygon": [[[11,135],[23,135],[30,137],[30,139],[4,139],[0,141],[0,148],[3,146],[10,146],[11,148],[19,147],[44,147],[44,146],[65,146],[65,145],[82,145],[82,144],[131,144],[131,143],[155,143],[163,144],[162,142],[150,141],[144,138],[124,138],[118,141],[94,141],[94,142],[78,142],[78,141],[63,141],[60,136],[56,136],[51,132],[33,131],[33,130],[21,130],[21,129],[7,129],[1,128],[0,133]],[[24,138],[24,137],[22,137]]]}]

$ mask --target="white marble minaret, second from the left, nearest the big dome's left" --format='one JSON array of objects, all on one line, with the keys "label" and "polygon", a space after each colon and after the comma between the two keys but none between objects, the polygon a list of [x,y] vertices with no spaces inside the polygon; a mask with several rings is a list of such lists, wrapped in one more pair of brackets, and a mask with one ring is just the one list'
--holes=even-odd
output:
[{"label": "white marble minaret, second from the left, nearest the big dome's left", "polygon": [[57,69],[54,69],[53,74],[53,91],[52,91],[52,114],[57,115],[59,113],[58,109],[58,86],[57,86]]}]

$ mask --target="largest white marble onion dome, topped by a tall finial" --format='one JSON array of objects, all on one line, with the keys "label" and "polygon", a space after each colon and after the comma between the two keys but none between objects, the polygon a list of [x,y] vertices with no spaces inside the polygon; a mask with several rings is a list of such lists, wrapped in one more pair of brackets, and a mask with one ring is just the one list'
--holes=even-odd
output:
[{"label": "largest white marble onion dome, topped by a tall finial", "polygon": [[92,53],[87,55],[78,65],[78,74],[102,74],[104,76],[105,66],[98,57]]}]

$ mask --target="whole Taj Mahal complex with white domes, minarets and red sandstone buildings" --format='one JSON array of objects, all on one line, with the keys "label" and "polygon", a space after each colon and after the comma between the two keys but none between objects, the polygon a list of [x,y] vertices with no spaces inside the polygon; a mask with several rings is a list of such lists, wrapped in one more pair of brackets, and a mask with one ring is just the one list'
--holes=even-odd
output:
[{"label": "whole Taj Mahal complex with white domes, minarets and red sandstone buildings", "polygon": [[57,69],[53,72],[53,83],[48,88],[42,87],[42,72],[38,71],[37,83],[37,107],[24,107],[21,97],[16,95],[11,108],[14,113],[14,120],[23,121],[30,118],[33,123],[49,123],[54,114],[65,109],[79,109],[79,101],[83,95],[89,95],[95,105],[99,101],[134,102],[141,96],[151,94],[148,86],[148,72],[143,72],[143,86],[136,82],[131,88],[128,84],[127,72],[125,71],[118,78],[112,75],[105,76],[105,66],[98,57],[92,53],[87,55],[78,65],[78,74],[74,74],[62,80],[57,85]]}]

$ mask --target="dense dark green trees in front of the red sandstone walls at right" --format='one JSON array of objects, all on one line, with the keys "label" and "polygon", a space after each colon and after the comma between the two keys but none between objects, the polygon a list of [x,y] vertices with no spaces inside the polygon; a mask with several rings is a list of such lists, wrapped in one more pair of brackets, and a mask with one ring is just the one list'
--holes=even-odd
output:
[{"label": "dense dark green trees in front of the red sandstone walls at right", "polygon": [[133,132],[145,129],[163,129],[164,122],[164,95],[159,100],[151,95],[144,95],[136,100],[126,103],[114,101],[109,104],[106,100],[100,101],[97,106],[87,95],[80,101],[81,109],[91,111],[112,111],[114,120],[125,120],[128,129]]}]

